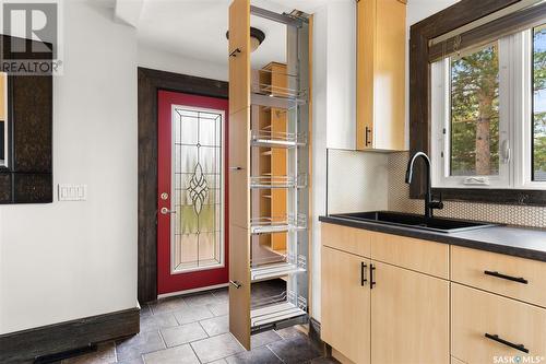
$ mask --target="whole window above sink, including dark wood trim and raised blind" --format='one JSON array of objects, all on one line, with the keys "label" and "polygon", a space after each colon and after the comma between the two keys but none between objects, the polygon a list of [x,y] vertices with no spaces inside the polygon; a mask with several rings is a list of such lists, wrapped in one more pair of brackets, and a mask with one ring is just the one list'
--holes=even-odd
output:
[{"label": "whole window above sink, including dark wood trim and raised blind", "polygon": [[437,195],[545,204],[546,3],[462,0],[413,25],[410,49],[410,146]]}]

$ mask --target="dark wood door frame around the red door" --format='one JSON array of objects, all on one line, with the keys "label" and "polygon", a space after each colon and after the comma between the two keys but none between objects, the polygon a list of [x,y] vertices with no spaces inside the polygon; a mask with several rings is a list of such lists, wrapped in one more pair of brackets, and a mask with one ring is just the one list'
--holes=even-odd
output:
[{"label": "dark wood door frame around the red door", "polygon": [[157,298],[157,91],[228,97],[228,83],[140,68],[139,73],[139,263],[140,303]]}]

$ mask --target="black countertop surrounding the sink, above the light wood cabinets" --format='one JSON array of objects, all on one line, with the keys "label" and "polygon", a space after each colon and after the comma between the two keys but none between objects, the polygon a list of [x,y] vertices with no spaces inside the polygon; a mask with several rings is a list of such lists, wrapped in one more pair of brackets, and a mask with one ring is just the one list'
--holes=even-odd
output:
[{"label": "black countertop surrounding the sink, above the light wood cabinets", "polygon": [[491,226],[460,233],[437,233],[371,221],[355,221],[335,215],[320,216],[319,221],[546,261],[546,230]]}]

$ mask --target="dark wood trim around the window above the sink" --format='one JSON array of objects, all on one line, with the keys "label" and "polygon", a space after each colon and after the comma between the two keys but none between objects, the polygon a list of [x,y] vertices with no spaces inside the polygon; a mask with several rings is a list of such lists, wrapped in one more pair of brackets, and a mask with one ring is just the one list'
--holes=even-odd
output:
[{"label": "dark wood trim around the window above the sink", "polygon": [[[430,152],[430,63],[429,40],[487,16],[521,0],[461,0],[412,25],[410,30],[410,152]],[[425,173],[416,165],[410,197],[425,195]],[[522,189],[434,188],[444,200],[546,206],[546,191]]]}]

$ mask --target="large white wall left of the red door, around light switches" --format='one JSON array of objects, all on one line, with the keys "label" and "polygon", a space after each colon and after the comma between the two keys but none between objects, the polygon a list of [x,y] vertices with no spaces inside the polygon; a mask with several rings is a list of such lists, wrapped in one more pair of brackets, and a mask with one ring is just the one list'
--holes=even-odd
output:
[{"label": "large white wall left of the red door, around light switches", "polygon": [[138,305],[135,31],[71,0],[63,36],[54,183],[88,198],[0,208],[0,333]]}]

